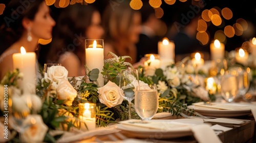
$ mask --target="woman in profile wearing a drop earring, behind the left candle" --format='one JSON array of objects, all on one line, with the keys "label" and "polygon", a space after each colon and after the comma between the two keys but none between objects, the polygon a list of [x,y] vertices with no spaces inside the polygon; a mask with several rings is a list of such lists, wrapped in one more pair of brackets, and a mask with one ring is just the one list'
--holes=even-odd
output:
[{"label": "woman in profile wearing a drop earring, behind the left candle", "polygon": [[[55,21],[50,15],[50,9],[44,0],[31,2],[24,12],[18,12],[23,1],[10,1],[3,15],[5,19],[0,23],[0,45],[4,51],[0,53],[0,79],[8,71],[13,70],[14,53],[20,53],[20,47],[23,46],[26,52],[36,52],[38,49],[38,40],[52,38],[52,28]],[[11,19],[12,15],[19,15]],[[9,22],[8,22],[9,21]],[[39,65],[36,60],[36,75],[40,78]]]}]

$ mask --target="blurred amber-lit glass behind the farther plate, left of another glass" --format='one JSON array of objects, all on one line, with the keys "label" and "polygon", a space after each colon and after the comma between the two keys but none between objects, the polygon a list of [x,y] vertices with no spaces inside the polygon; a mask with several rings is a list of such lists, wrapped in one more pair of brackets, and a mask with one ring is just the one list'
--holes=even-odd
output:
[{"label": "blurred amber-lit glass behind the farther plate, left of another glass", "polygon": [[232,102],[238,94],[238,73],[236,70],[227,70],[220,77],[221,96],[227,101]]}]

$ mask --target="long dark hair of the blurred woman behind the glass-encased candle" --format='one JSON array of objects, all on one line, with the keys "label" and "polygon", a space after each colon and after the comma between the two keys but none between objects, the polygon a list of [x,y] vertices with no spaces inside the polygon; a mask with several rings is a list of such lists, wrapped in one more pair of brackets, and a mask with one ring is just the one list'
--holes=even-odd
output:
[{"label": "long dark hair of the blurred woman behind the glass-encased candle", "polygon": [[49,63],[58,62],[60,55],[73,52],[80,61],[84,57],[84,40],[87,28],[91,25],[92,15],[96,9],[81,4],[63,8],[54,29],[51,49],[48,54]]}]

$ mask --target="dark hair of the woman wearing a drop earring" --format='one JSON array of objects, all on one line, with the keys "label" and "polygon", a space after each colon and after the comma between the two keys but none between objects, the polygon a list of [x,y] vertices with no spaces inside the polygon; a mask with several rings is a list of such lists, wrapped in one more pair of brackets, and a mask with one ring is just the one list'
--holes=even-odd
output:
[{"label": "dark hair of the woman wearing a drop earring", "polygon": [[33,20],[43,2],[45,0],[11,0],[8,3],[0,23],[0,55],[22,36],[22,20]]}]

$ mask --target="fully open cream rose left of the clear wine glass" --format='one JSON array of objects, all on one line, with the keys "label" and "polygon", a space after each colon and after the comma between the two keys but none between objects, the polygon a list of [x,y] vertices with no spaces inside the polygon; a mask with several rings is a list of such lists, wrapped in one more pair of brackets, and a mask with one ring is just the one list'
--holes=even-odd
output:
[{"label": "fully open cream rose left of the clear wine glass", "polygon": [[103,87],[98,88],[98,93],[100,103],[105,104],[109,108],[123,102],[123,90],[111,81]]}]

